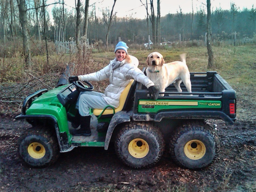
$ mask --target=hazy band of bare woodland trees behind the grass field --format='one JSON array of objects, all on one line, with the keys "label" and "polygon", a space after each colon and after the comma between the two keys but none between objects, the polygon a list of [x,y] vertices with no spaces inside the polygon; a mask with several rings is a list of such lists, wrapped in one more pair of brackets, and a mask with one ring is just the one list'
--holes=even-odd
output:
[{"label": "hazy band of bare woodland trees behind the grass field", "polygon": [[[19,12],[22,6],[24,6],[27,17],[28,38],[37,42],[41,42],[44,38],[52,42],[73,40],[78,30],[81,36],[88,38],[90,45],[91,43],[115,45],[119,37],[130,44],[144,44],[148,42],[148,35],[151,35],[151,40],[155,44],[164,41],[179,42],[180,40],[204,41],[206,4],[202,4],[195,12],[191,8],[192,13],[183,13],[180,7],[176,14],[162,16],[159,0],[157,8],[153,6],[153,0],[141,0],[145,6],[145,19],[137,19],[132,16],[116,17],[114,9],[116,1],[110,2],[112,10],[102,9],[100,10],[102,15],[98,16],[96,14],[98,8],[95,4],[90,6],[90,10],[88,9],[89,0],[74,1],[76,7],[71,10],[67,8],[64,0],[55,3],[52,10],[47,9],[49,3],[45,0],[1,0],[1,44],[3,46],[8,41],[22,37],[22,27],[25,27]],[[50,18],[50,12],[52,18]],[[78,17],[80,20],[77,29]],[[239,11],[239,7],[232,2],[230,2],[229,10],[223,10],[221,7],[211,8],[211,29],[212,38],[218,43],[234,40],[235,33],[236,38],[240,40],[239,43],[253,41],[256,32],[256,8],[252,5],[251,9],[245,8]],[[3,49],[2,46],[1,49]],[[6,56],[6,53],[1,51],[1,56]]]}]

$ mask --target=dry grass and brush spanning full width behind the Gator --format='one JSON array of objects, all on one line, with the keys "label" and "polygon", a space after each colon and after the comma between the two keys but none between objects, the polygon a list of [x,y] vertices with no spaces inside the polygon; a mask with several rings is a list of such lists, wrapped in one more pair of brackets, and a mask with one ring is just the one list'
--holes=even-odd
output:
[{"label": "dry grass and brush spanning full width behind the Gator", "polygon": [[[114,58],[114,52],[94,51],[93,47],[83,46],[83,56],[76,54],[56,54],[54,45],[51,46],[51,55],[49,65],[46,62],[44,51],[36,52],[38,47],[33,47],[31,70],[25,68],[24,57],[21,55],[20,47],[12,50],[13,53],[4,52],[5,56],[0,57],[0,83],[1,86],[9,86],[12,83],[18,83],[24,86],[24,83],[38,82],[37,88],[45,88],[40,81],[46,82],[48,87],[55,87],[62,72],[65,71],[68,63],[75,63],[75,68],[70,75],[83,75],[100,70],[109,64]],[[100,50],[102,51],[102,50]],[[256,49],[255,45],[247,46],[219,46],[213,47],[215,68],[207,69],[208,54],[206,47],[202,46],[183,46],[183,47],[153,47],[148,50],[139,45],[130,46],[128,52],[138,58],[139,68],[146,67],[146,58],[149,53],[157,51],[164,56],[165,62],[180,60],[179,55],[186,53],[186,63],[190,72],[206,72],[214,70],[236,90],[236,89],[254,89],[256,81]],[[36,54],[37,53],[37,54]],[[40,53],[40,54],[39,54]],[[49,76],[50,74],[50,76]],[[33,79],[32,79],[33,78]],[[108,81],[92,82],[96,91],[103,92]],[[41,84],[41,87],[40,87]],[[48,88],[47,87],[47,88]],[[34,91],[34,88],[31,88]],[[24,93],[25,94],[25,93]],[[26,92],[27,94],[27,92]],[[25,97],[24,95],[23,97]],[[242,95],[243,97],[243,95]],[[243,99],[243,98],[242,98]],[[254,101],[255,102],[255,101]]]}]

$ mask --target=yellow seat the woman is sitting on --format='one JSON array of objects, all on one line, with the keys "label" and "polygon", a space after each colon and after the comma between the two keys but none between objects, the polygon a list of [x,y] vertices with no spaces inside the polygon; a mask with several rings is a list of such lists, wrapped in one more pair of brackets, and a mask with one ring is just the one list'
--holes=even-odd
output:
[{"label": "yellow seat the woman is sitting on", "polygon": [[[134,82],[134,80],[131,80],[130,83],[125,87],[124,91],[121,93],[120,103],[119,103],[119,106],[115,109],[115,113],[118,111],[121,111],[124,108],[124,104],[127,99],[127,95],[130,91],[130,88],[131,88],[133,82]],[[102,110],[103,109],[93,109],[93,114],[95,116],[99,116],[101,114]],[[106,109],[102,115],[111,115],[111,114],[114,114],[114,110]]]}]

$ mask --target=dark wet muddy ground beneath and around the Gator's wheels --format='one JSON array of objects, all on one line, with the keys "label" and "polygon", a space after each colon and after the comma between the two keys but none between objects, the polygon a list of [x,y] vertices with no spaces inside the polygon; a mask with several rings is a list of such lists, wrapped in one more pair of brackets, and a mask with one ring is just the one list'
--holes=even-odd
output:
[{"label": "dark wet muddy ground beneath and around the Gator's wheels", "polygon": [[131,169],[110,146],[80,147],[62,153],[47,168],[31,168],[17,153],[17,141],[30,125],[0,116],[0,191],[256,191],[256,103],[254,92],[237,91],[237,121],[217,125],[220,152],[201,170],[180,168],[168,154],[154,167]]}]

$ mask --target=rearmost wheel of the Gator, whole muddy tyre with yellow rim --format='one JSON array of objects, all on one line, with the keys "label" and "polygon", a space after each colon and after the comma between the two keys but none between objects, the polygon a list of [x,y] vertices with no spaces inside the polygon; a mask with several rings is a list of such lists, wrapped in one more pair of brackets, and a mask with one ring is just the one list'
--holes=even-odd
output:
[{"label": "rearmost wheel of the Gator, whole muddy tyre with yellow rim", "polygon": [[190,169],[209,166],[218,149],[219,139],[214,129],[203,121],[191,121],[178,127],[170,141],[173,160]]}]

